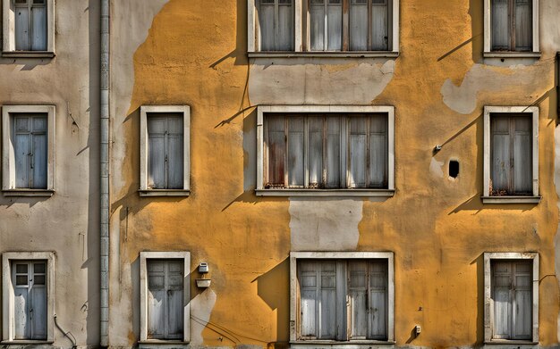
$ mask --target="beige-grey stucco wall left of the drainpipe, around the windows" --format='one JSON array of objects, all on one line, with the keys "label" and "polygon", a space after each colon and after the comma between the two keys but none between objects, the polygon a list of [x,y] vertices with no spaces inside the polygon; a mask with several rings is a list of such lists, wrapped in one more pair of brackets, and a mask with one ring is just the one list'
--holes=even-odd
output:
[{"label": "beige-grey stucco wall left of the drainpipe, around the windows", "polygon": [[[58,1],[55,18],[54,58],[0,58],[0,106],[56,111],[55,194],[0,195],[0,253],[54,252],[56,320],[78,347],[97,347],[98,2]],[[55,328],[53,345],[72,342]]]}]

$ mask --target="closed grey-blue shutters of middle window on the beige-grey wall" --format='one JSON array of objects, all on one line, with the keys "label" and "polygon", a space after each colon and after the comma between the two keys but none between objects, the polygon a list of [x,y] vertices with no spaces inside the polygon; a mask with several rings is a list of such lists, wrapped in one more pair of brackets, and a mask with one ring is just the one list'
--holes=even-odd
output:
[{"label": "closed grey-blue shutters of middle window on the beige-grey wall", "polygon": [[15,187],[47,188],[47,116],[13,117]]}]

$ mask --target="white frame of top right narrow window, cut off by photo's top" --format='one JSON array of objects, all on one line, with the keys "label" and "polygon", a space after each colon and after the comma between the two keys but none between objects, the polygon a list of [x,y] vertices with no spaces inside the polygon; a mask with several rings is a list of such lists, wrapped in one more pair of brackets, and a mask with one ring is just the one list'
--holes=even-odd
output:
[{"label": "white frame of top right narrow window, cut off by photo's top", "polygon": [[539,0],[533,0],[532,8],[532,52],[492,51],[492,0],[484,0],[484,57],[496,58],[539,58]]}]

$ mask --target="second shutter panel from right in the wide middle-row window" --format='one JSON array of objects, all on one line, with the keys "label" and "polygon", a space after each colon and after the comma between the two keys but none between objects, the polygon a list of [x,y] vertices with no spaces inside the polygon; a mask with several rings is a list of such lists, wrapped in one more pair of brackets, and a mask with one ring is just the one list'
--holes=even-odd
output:
[{"label": "second shutter panel from right in the wide middle-row window", "polygon": [[366,187],[367,154],[367,118],[355,116],[350,118],[350,187]]}]

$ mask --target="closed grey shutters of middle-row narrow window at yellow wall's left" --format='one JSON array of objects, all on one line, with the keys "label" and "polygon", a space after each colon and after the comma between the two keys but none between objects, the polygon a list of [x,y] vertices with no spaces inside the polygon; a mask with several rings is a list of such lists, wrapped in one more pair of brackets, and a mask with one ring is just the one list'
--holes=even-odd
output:
[{"label": "closed grey shutters of middle-row narrow window at yellow wall's left", "polygon": [[183,187],[182,114],[148,115],[148,188]]}]

